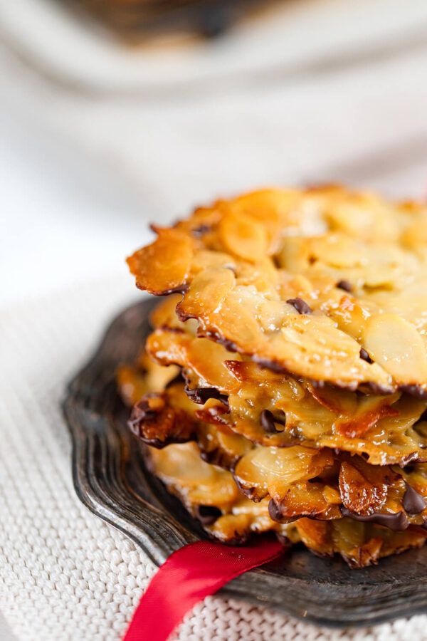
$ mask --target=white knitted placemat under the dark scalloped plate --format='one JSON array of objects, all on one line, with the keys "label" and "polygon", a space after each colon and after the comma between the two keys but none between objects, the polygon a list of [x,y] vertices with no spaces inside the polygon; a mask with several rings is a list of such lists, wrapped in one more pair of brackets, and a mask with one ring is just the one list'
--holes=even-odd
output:
[{"label": "white knitted placemat under the dark scalloped plate", "polygon": [[[122,283],[109,278],[0,311],[0,608],[19,640],[117,640],[155,572],[76,498],[59,408],[65,382],[131,302]],[[427,615],[332,631],[210,597],[175,638],[415,641],[427,638]]]}]

